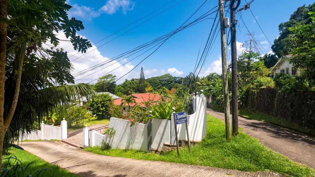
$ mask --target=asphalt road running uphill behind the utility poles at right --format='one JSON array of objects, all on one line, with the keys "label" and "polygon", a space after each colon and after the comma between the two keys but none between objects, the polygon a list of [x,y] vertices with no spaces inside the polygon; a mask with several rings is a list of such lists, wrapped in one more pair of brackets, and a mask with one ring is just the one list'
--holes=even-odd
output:
[{"label": "asphalt road running uphill behind the utility poles at right", "polygon": [[[207,109],[207,113],[224,121],[224,113]],[[232,118],[232,115],[231,115]],[[231,120],[232,123],[232,120]],[[315,169],[315,139],[270,123],[238,117],[243,132],[257,138],[262,144],[289,159]]]}]

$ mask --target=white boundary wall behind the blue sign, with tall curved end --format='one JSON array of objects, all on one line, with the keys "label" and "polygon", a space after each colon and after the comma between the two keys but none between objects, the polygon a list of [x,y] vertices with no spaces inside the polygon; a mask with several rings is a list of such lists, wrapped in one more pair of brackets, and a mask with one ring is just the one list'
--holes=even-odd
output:
[{"label": "white boundary wall behind the blue sign, with tall curved end", "polygon": [[[198,94],[194,96],[196,111],[187,115],[188,131],[191,141],[201,141],[207,134],[207,98],[200,97]],[[135,123],[130,127],[130,121],[111,117],[109,127],[114,128],[116,133],[109,142],[113,149],[135,149],[140,151],[148,151],[150,147],[148,140],[148,124]],[[179,140],[187,140],[186,126],[180,124]],[[88,128],[86,128],[88,132]],[[83,130],[84,131],[84,130]],[[83,133],[83,146],[100,146],[102,140],[109,141],[105,135],[96,131],[89,132],[89,141]],[[89,142],[89,144],[87,143]],[[161,150],[164,143],[173,144],[175,142],[175,126],[173,115],[171,120],[152,119],[152,137],[151,148]]]}]

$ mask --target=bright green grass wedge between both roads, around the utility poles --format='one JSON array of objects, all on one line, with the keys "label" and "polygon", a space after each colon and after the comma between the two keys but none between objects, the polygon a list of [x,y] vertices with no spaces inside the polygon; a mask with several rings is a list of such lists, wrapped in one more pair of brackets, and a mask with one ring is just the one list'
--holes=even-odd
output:
[{"label": "bright green grass wedge between both roads, around the utility poles", "polygon": [[115,157],[195,164],[247,172],[273,171],[287,176],[315,176],[314,169],[295,163],[278,152],[273,152],[256,138],[241,131],[239,136],[232,137],[230,142],[226,141],[224,123],[209,114],[207,115],[207,136],[205,139],[193,146],[191,152],[188,151],[188,148],[181,148],[180,157],[177,156],[176,150],[160,155],[135,150],[110,149],[101,151],[100,147],[88,147],[85,150]]}]

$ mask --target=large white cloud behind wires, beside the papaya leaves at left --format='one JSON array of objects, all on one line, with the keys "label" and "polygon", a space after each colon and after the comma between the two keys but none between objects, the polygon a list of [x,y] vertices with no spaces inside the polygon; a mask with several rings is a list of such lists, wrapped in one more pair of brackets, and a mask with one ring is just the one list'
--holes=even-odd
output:
[{"label": "large white cloud behind wires, beside the papaya leaves at left", "polygon": [[[67,40],[66,36],[63,34],[62,31],[60,31],[58,33],[57,37],[59,39],[62,39],[62,40]],[[84,36],[81,36],[81,37],[85,38]],[[68,57],[70,57],[69,58],[70,61],[82,56],[82,57],[78,58],[77,60],[72,61],[72,65],[74,68],[74,70],[71,72],[72,74],[75,74],[79,71],[85,70],[89,67],[95,66],[101,62],[104,62],[104,61],[110,59],[110,58],[107,58],[107,57],[103,56],[102,54],[100,54],[100,51],[98,49],[96,49],[95,45],[93,45],[91,48],[89,48],[86,53],[88,53],[88,52],[90,52],[90,53],[85,54],[84,56],[81,52],[77,54],[77,51],[73,49],[72,44],[68,41],[60,41],[59,47],[63,48],[65,51],[67,51]],[[93,49],[95,49],[95,50],[92,51]],[[74,55],[74,56],[72,56],[72,55]],[[122,58],[120,58],[118,60],[121,60],[121,59]],[[76,81],[77,79],[80,79],[82,77],[87,76],[81,80],[76,81],[75,83],[88,83],[94,79],[97,79],[98,77],[105,75],[106,73],[108,73],[114,69],[115,70],[110,72],[109,74],[116,75],[117,79],[118,79],[119,77],[123,76],[124,74],[126,74],[128,71],[130,71],[131,69],[133,69],[135,67],[130,62],[128,62],[128,63],[126,63],[126,62],[128,62],[127,59],[122,60],[121,63],[117,62],[117,60],[111,61],[104,66],[97,67],[93,71],[90,71],[90,72],[87,72],[85,74],[82,74],[80,76],[75,77],[74,80]],[[126,63],[126,64],[124,64],[124,63]],[[100,69],[102,69],[102,70],[100,70]],[[98,70],[100,70],[100,71],[98,71]],[[98,71],[98,72],[91,74],[95,71]],[[124,81],[124,79],[132,78],[133,77],[132,73],[133,72],[130,72],[129,74],[124,76],[123,78],[118,80],[117,83],[119,84],[119,83],[122,83]],[[91,75],[88,76],[89,74],[91,74]],[[95,82],[96,81],[94,81],[93,83],[95,83]]]}]

